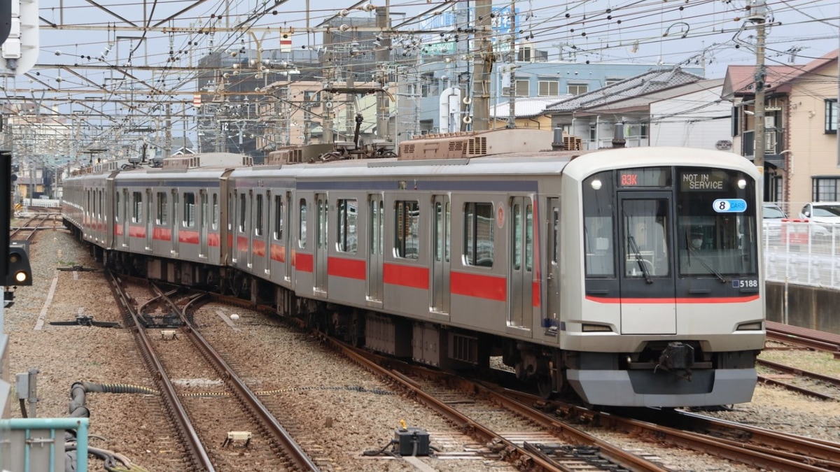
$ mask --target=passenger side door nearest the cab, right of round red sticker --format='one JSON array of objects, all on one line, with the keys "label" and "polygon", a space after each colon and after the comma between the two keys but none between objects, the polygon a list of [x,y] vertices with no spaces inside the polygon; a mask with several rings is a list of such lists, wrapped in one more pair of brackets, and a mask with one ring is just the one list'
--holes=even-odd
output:
[{"label": "passenger side door nearest the cab, right of round red sticker", "polygon": [[[500,211],[496,210],[497,212]],[[531,329],[533,325],[533,203],[529,197],[512,197],[504,210],[510,218],[508,274],[508,325]],[[498,218],[498,217],[497,217]],[[501,219],[501,218],[500,218]]]}]

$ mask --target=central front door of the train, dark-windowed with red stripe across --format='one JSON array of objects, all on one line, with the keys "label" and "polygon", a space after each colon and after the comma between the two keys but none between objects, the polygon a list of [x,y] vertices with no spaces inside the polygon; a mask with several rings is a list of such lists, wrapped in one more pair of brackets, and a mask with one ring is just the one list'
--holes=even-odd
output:
[{"label": "central front door of the train, dark-windowed with red stripe across", "polygon": [[622,334],[675,334],[671,193],[619,191]]}]

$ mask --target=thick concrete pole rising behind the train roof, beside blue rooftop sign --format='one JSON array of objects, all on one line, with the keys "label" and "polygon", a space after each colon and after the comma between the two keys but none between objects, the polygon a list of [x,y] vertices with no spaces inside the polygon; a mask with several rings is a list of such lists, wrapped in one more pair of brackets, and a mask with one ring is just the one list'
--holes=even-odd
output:
[{"label": "thick concrete pole rising behind the train roof, beside blue rooftop sign", "polygon": [[475,44],[473,58],[473,130],[490,129],[490,72],[493,68],[491,43],[492,0],[475,0]]}]

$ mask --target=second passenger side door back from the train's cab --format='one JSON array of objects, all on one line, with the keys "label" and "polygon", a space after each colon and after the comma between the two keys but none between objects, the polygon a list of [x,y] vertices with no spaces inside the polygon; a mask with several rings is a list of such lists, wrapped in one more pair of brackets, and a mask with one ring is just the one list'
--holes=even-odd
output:
[{"label": "second passenger side door back from the train's cab", "polygon": [[432,223],[432,311],[449,314],[449,235],[451,216],[448,195],[435,195]]}]

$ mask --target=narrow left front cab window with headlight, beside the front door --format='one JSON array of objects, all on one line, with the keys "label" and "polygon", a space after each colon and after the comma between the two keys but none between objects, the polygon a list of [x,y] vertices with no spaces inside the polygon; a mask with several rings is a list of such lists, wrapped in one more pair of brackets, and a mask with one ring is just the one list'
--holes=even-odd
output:
[{"label": "narrow left front cab window with headlight, beside the front door", "polygon": [[615,277],[615,233],[612,225],[615,185],[612,171],[583,182],[583,236],[587,277]]}]

